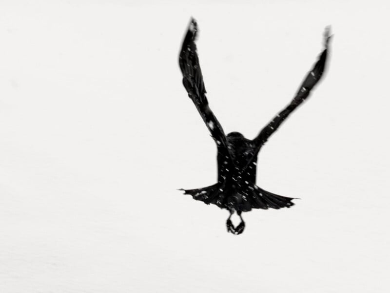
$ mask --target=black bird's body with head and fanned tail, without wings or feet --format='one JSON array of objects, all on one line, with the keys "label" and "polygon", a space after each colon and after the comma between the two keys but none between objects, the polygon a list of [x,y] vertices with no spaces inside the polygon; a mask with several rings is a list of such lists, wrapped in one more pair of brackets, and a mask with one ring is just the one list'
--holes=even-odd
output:
[{"label": "black bird's body with head and fanned tail, without wings or feet", "polygon": [[227,135],[227,144],[231,156],[224,152],[217,154],[218,182],[205,188],[185,190],[187,194],[206,204],[229,209],[232,213],[237,211],[238,214],[251,209],[280,209],[293,205],[293,198],[276,195],[256,186],[258,151],[253,141],[232,132]]}]

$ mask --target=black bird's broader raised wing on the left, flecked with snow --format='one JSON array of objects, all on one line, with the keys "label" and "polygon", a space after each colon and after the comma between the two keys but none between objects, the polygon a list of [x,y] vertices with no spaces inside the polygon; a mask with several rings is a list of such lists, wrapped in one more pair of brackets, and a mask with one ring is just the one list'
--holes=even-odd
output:
[{"label": "black bird's broader raised wing on the left, flecked with snow", "polygon": [[218,152],[222,152],[225,156],[228,156],[231,161],[226,135],[213,111],[210,109],[206,98],[206,88],[203,83],[202,71],[196,52],[196,34],[197,24],[196,21],[192,19],[179,55],[179,66],[181,73],[183,74],[183,85],[207,128],[210,130],[211,135],[217,144]]}]

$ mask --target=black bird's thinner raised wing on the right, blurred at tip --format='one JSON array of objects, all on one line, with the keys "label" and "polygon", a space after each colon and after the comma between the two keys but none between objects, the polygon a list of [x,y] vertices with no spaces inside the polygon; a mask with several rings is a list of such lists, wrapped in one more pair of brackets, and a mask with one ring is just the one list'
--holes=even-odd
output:
[{"label": "black bird's thinner raised wing on the right, blurred at tip", "polygon": [[295,97],[292,99],[292,102],[287,105],[282,111],[280,111],[273,120],[265,126],[257,137],[254,139],[254,143],[257,147],[257,150],[264,145],[268,138],[276,131],[276,129],[282,124],[282,122],[294,111],[299,105],[308,98],[310,91],[321,79],[321,76],[325,69],[325,63],[328,55],[328,43],[331,38],[329,35],[330,28],[327,27],[324,33],[324,46],[325,49],[322,51],[320,57],[318,58],[317,63],[315,63],[312,70],[309,71],[305,80],[299,87]]}]

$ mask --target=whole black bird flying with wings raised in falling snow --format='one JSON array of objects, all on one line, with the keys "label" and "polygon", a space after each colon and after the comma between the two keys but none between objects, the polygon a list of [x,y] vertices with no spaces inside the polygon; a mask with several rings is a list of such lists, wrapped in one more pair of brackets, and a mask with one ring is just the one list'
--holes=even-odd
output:
[{"label": "whole black bird flying with wings raised in falling snow", "polygon": [[[277,195],[256,185],[257,155],[261,147],[286,118],[309,97],[310,92],[323,76],[331,39],[330,26],[325,28],[322,52],[312,69],[307,73],[290,104],[276,114],[253,140],[245,138],[236,131],[225,135],[222,126],[211,110],[206,97],[206,88],[195,44],[197,32],[197,22],[191,18],[178,61],[184,88],[217,147],[217,183],[203,188],[180,188],[178,190],[184,191],[184,194],[189,194],[195,200],[202,201],[207,205],[213,204],[221,209],[229,210],[230,215],[226,220],[227,231],[238,235],[245,229],[242,212],[248,212],[252,209],[290,208],[294,205],[292,200],[296,198]],[[236,227],[231,221],[234,212],[241,220]]]}]

